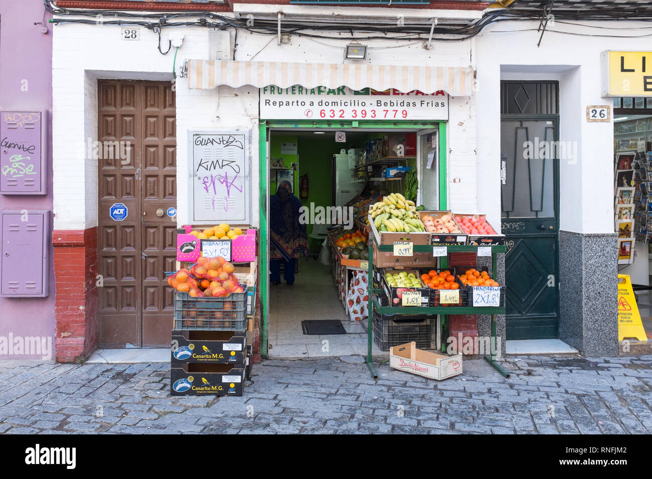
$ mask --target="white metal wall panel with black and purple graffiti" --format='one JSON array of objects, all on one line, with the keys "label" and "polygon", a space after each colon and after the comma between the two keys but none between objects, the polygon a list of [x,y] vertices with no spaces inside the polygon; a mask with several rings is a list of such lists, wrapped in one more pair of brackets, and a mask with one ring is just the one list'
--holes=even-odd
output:
[{"label": "white metal wall panel with black and purple graffiti", "polygon": [[249,134],[189,132],[192,224],[250,224]]}]

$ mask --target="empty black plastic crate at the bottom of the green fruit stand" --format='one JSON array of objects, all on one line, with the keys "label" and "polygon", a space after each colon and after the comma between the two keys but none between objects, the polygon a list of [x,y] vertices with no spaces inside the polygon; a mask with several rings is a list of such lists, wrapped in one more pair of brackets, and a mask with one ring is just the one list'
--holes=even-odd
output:
[{"label": "empty black plastic crate at the bottom of the green fruit stand", "polygon": [[435,349],[436,319],[426,317],[421,321],[398,323],[391,319],[382,319],[374,309],[374,343],[381,351],[415,341],[419,349]]}]

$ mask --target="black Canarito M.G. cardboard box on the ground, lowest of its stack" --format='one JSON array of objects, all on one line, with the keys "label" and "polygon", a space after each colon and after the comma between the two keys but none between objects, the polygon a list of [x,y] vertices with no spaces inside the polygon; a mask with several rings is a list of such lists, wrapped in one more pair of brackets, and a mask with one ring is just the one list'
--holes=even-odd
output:
[{"label": "black Canarito M.G. cardboard box on the ground, lowest of its stack", "polygon": [[173,364],[170,370],[172,396],[242,396],[244,364]]}]

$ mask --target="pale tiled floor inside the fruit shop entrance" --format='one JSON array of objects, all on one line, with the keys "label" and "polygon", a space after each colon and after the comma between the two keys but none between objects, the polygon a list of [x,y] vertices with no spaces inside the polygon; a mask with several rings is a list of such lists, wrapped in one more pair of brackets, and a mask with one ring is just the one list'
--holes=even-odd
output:
[{"label": "pale tiled floor inside the fruit shop entrance", "polygon": [[[300,259],[295,283],[269,285],[269,356],[304,358],[366,355],[366,331],[351,321],[335,287],[331,267],[319,261]],[[309,336],[303,334],[304,319],[339,319],[348,334]],[[326,341],[326,342],[325,342]],[[374,355],[383,353],[374,345]]]}]

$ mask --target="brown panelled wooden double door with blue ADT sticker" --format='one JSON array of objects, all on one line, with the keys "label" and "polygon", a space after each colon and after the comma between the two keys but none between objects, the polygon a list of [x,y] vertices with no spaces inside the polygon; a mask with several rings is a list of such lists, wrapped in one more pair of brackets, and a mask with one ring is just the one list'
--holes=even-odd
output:
[{"label": "brown panelled wooden double door with blue ADT sticker", "polygon": [[[177,205],[175,95],[166,82],[102,80],[98,96],[100,346],[167,347],[173,292],[165,272],[174,270],[176,255],[176,218],[167,214]],[[129,154],[117,154],[127,144]],[[119,203],[127,209],[123,220],[111,217]]]}]

